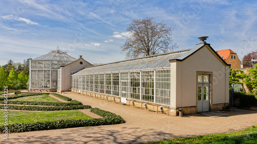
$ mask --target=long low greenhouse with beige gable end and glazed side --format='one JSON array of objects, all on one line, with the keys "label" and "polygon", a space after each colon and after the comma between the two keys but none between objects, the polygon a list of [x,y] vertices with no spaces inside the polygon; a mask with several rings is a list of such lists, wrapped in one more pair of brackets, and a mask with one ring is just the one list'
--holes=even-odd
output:
[{"label": "long low greenhouse with beige gable end and glazed side", "polygon": [[70,90],[173,115],[224,109],[230,64],[205,39],[193,49],[84,67],[71,74]]}]

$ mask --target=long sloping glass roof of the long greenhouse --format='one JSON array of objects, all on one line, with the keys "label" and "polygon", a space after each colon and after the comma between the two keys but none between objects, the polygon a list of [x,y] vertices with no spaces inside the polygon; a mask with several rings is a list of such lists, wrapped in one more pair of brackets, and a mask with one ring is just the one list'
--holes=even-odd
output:
[{"label": "long sloping glass roof of the long greenhouse", "polygon": [[148,56],[132,60],[119,61],[97,66],[85,67],[74,75],[84,75],[93,73],[108,73],[113,71],[126,71],[126,70],[143,70],[170,67],[170,59],[176,59],[186,54],[189,50],[177,51],[155,56]]}]

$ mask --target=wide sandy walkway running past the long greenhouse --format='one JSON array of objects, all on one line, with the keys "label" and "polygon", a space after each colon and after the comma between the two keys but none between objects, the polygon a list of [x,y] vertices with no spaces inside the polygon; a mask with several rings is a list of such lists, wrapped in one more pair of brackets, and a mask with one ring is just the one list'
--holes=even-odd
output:
[{"label": "wide sandy walkway running past the long greenhouse", "polygon": [[[115,104],[82,94],[66,92],[63,95],[84,105],[121,115],[126,123],[119,125],[69,128],[9,134],[8,142],[34,143],[128,143],[180,136],[235,131],[257,125],[257,111],[236,109],[226,111],[228,116],[176,117],[148,110]],[[4,136],[0,141],[5,141]],[[5,141],[6,142],[6,141]]]}]

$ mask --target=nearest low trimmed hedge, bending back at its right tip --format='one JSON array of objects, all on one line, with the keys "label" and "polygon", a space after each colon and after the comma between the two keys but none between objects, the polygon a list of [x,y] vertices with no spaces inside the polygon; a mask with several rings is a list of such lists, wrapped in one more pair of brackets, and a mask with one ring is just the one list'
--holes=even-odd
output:
[{"label": "nearest low trimmed hedge, bending back at its right tip", "polygon": [[[8,126],[9,132],[28,132],[28,131],[40,131],[40,130],[52,130],[52,129],[65,129],[75,127],[89,127],[89,126],[101,126],[101,125],[113,125],[125,123],[124,119],[120,115],[101,110],[99,108],[91,109],[92,112],[103,116],[104,118],[94,119],[71,119],[61,120],[54,122],[40,122],[32,124],[14,124]],[[0,131],[3,133],[5,127],[0,127]]]}]

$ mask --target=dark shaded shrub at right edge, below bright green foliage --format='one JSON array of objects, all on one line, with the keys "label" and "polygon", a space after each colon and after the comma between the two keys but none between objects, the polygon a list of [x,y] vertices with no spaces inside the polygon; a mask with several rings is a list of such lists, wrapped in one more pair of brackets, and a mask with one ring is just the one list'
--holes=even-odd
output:
[{"label": "dark shaded shrub at right edge, below bright green foliage", "polygon": [[243,92],[234,92],[234,100],[240,100],[239,108],[250,108],[252,106],[257,106],[257,99],[253,94],[247,94]]}]

